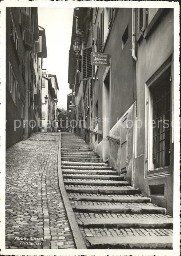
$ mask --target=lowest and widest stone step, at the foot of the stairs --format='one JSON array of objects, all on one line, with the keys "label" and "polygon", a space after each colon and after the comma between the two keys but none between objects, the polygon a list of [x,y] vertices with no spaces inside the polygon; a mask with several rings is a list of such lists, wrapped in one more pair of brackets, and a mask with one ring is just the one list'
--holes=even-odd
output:
[{"label": "lowest and widest stone step, at the foot of the stairs", "polygon": [[99,236],[86,237],[88,249],[172,249],[169,236]]}]

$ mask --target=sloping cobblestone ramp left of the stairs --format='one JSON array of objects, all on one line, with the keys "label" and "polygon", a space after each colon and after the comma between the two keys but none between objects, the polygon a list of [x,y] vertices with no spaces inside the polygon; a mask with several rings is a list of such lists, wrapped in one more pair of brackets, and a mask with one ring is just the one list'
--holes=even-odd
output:
[{"label": "sloping cobblestone ramp left of the stairs", "polygon": [[58,133],[33,133],[6,153],[6,248],[75,248],[58,187]]}]

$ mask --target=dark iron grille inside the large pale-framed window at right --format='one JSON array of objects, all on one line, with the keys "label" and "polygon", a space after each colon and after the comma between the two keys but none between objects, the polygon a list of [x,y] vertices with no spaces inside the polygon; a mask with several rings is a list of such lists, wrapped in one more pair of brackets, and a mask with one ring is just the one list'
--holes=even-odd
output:
[{"label": "dark iron grille inside the large pale-framed window at right", "polygon": [[154,168],[170,165],[170,74],[151,88]]}]

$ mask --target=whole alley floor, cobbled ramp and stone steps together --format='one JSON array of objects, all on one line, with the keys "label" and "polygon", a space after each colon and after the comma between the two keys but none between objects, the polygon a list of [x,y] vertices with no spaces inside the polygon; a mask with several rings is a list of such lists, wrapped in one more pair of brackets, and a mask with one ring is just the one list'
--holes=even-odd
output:
[{"label": "whole alley floor, cobbled ramp and stone steps together", "polygon": [[[166,209],[131,187],[75,133],[33,133],[8,148],[6,158],[6,248],[172,248],[173,218]],[[67,218],[58,165],[77,223]]]}]

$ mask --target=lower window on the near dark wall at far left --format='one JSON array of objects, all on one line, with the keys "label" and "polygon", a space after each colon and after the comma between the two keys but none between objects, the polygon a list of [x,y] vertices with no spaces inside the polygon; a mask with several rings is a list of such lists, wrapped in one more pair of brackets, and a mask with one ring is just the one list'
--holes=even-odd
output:
[{"label": "lower window on the near dark wall at far left", "polygon": [[15,74],[12,70],[11,64],[9,62],[9,92],[11,93],[12,99],[17,104],[17,97],[18,97],[18,84],[15,78]]}]

